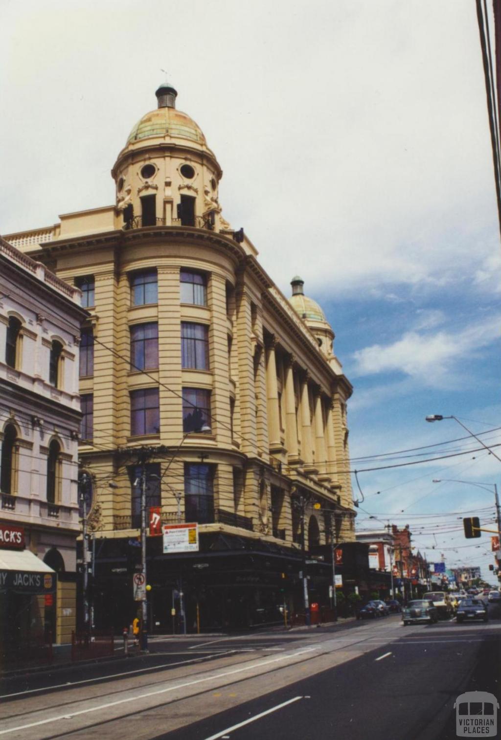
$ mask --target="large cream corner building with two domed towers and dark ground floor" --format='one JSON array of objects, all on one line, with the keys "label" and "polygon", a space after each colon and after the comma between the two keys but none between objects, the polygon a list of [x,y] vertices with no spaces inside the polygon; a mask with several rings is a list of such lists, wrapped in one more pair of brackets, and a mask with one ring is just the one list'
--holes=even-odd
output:
[{"label": "large cream corner building with two domed towers and dark ground floor", "polygon": [[[91,314],[79,454],[93,476],[96,623],[135,611],[141,465],[148,508],[200,534],[200,551],[178,556],[148,537],[149,627],[169,627],[183,589],[188,629],[273,621],[283,601],[302,604],[305,552],[354,541],[352,386],[303,280],[284,297],[223,218],[221,166],[175,89],[156,96],[112,167],[115,203],[7,239],[81,289]],[[317,602],[328,561],[309,574]]]}]

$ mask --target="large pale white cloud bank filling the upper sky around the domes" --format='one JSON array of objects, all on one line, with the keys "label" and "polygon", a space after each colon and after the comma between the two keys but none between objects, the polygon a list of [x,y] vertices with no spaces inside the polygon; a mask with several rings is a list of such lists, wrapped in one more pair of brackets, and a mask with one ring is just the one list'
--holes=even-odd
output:
[{"label": "large pale white cloud bank filling the upper sky around the domes", "polygon": [[484,269],[497,213],[470,0],[150,0],[131,24],[134,9],[3,4],[4,233],[112,203],[167,65],[223,166],[226,218],[286,292],[295,272],[320,297],[390,296]]}]

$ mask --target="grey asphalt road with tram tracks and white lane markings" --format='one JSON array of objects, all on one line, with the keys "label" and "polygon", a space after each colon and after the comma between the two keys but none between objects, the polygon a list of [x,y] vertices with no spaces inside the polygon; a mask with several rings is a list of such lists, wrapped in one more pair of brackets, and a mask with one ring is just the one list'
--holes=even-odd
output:
[{"label": "grey asphalt road with tram tracks and white lane markings", "polygon": [[499,696],[498,611],[486,625],[391,616],[155,639],[141,659],[4,683],[0,740],[453,739],[460,693]]}]

